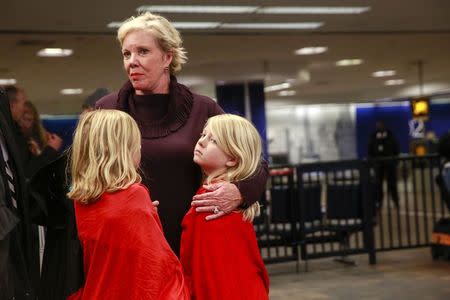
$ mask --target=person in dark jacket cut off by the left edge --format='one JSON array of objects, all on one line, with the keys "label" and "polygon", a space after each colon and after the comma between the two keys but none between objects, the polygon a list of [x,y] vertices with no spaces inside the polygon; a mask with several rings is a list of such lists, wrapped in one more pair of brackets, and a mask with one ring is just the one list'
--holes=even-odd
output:
[{"label": "person in dark jacket cut off by the left edge", "polygon": [[34,299],[29,202],[7,95],[0,89],[0,296]]}]

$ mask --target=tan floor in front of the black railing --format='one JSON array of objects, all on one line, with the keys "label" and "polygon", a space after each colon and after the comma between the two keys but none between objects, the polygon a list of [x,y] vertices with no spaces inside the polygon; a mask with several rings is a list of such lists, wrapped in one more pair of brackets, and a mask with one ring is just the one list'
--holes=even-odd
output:
[{"label": "tan floor in front of the black railing", "polygon": [[300,263],[268,265],[272,300],[448,300],[450,261],[433,261],[429,248],[377,254],[377,264],[367,255],[352,256],[357,266],[333,259],[310,260],[308,272]]}]

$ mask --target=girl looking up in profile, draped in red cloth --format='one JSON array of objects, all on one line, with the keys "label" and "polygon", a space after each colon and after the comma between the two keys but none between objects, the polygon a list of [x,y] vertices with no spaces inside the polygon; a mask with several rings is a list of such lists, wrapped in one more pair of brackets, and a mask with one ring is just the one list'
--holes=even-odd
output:
[{"label": "girl looking up in profile, draped in red cloth", "polygon": [[[194,149],[204,183],[239,182],[253,176],[261,161],[261,139],[246,119],[210,118]],[[197,194],[206,190],[201,187]],[[216,207],[214,214],[222,214]],[[191,208],[183,219],[181,263],[193,299],[268,299],[269,278],[259,253],[253,218],[259,204],[207,221]]]}]

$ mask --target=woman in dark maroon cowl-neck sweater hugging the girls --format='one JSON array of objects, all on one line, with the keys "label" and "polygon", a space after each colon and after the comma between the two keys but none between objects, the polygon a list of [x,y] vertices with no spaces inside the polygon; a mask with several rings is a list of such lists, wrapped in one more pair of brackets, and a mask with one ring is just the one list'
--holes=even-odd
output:
[{"label": "woman in dark maroon cowl-neck sweater hugging the girls", "polygon": [[223,110],[177,82],[175,74],[187,57],[179,32],[166,18],[148,12],[131,17],[122,23],[117,38],[128,81],[96,107],[122,110],[137,122],[142,134],[143,183],[151,198],[160,201],[165,236],[179,253],[181,221],[190,206],[217,211],[208,216],[215,219],[252,205],[265,190],[267,163],[247,180],[208,186],[209,192],[196,195],[191,204],[202,178],[192,161],[194,146],[206,120]]}]

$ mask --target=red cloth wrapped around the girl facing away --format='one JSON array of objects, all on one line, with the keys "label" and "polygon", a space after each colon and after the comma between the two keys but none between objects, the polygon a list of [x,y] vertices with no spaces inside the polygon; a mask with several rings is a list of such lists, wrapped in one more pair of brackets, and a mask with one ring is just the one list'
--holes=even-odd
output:
[{"label": "red cloth wrapped around the girl facing away", "polygon": [[189,299],[148,190],[134,184],[75,203],[85,284],[69,299]]}]

